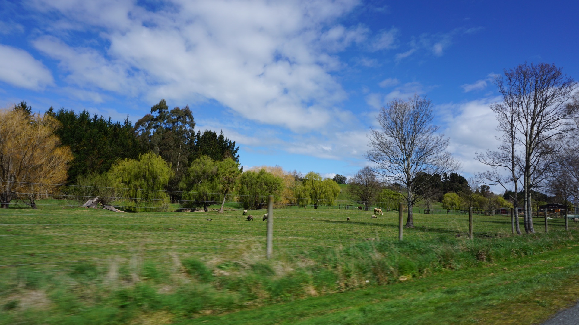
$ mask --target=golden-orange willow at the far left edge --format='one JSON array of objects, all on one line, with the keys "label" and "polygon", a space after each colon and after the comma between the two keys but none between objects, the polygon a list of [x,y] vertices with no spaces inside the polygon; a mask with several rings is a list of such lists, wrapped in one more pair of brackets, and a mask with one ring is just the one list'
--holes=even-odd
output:
[{"label": "golden-orange willow at the far left edge", "polygon": [[58,121],[30,109],[0,109],[0,206],[19,198],[32,208],[39,195],[67,179],[72,153],[54,135]]}]

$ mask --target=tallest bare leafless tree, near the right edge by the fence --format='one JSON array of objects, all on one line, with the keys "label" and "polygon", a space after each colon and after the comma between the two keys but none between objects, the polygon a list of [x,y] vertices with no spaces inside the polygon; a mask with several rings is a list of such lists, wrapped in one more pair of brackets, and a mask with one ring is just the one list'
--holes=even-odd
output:
[{"label": "tallest bare leafless tree, near the right edge by the fence", "polygon": [[[495,83],[503,102],[491,105],[491,109],[497,113],[503,143],[499,151],[477,156],[494,168],[494,172],[479,176],[491,183],[511,183],[515,193],[522,179],[525,231],[534,232],[531,190],[548,177],[549,169],[558,162],[553,159],[561,149],[556,143],[571,130],[570,119],[579,110],[579,105],[569,102],[577,83],[554,64],[545,63],[505,70]],[[510,175],[501,176],[497,172],[501,168]],[[512,199],[516,209],[516,197]]]}]

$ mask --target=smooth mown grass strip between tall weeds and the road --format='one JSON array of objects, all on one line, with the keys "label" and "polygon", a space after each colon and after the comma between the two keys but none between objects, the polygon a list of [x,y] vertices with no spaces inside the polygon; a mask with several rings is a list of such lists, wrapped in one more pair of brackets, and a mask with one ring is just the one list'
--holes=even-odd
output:
[{"label": "smooth mown grass strip between tall weeds and the road", "polygon": [[579,247],[179,324],[540,324],[579,300]]}]

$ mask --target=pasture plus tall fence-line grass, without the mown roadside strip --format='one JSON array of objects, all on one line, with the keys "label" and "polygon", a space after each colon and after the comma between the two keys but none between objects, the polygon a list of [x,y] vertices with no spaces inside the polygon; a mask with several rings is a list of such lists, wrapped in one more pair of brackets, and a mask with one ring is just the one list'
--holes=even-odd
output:
[{"label": "pasture plus tall fence-line grass, without the mown roadside strip", "polygon": [[[0,300],[6,301],[0,323],[89,324],[92,311],[100,315],[94,324],[111,323],[111,317],[145,324],[138,319],[151,308],[167,316],[157,323],[181,322],[207,312],[426,280],[549,252],[579,235],[575,224],[563,231],[564,221],[554,219],[548,235],[511,236],[510,217],[475,216],[470,241],[467,215],[415,214],[416,228],[405,229],[398,242],[397,213],[371,219],[357,210],[275,209],[274,258],[267,261],[265,212],[250,211],[255,219],[247,221],[233,209],[0,210]],[[543,219],[534,222],[543,231]]]}]

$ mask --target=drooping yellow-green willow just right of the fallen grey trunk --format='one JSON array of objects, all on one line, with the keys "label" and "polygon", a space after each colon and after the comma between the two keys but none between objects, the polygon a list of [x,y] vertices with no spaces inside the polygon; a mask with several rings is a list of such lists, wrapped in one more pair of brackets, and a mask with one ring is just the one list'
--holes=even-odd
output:
[{"label": "drooping yellow-green willow just right of the fallen grey trunk", "polygon": [[173,175],[171,165],[151,152],[121,160],[108,171],[111,186],[121,189],[120,205],[133,212],[167,211],[165,187]]}]

